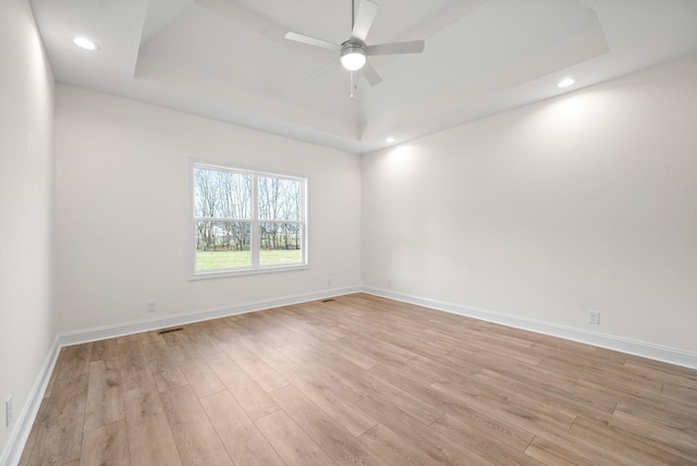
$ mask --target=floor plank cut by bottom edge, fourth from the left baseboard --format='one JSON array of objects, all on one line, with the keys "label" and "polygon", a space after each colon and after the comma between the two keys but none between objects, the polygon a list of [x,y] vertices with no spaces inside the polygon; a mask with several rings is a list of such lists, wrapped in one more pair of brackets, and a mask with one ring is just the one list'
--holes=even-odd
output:
[{"label": "floor plank cut by bottom edge, fourth from the left baseboard", "polygon": [[184,465],[233,465],[191,387],[171,389],[160,396]]}]

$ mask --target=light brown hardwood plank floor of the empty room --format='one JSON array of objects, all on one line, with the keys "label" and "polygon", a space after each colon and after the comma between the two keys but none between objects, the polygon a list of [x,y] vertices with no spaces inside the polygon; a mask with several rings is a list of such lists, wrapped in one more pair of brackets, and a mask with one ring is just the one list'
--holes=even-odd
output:
[{"label": "light brown hardwood plank floor of the empty room", "polygon": [[21,464],[697,464],[697,371],[355,294],[64,347]]}]

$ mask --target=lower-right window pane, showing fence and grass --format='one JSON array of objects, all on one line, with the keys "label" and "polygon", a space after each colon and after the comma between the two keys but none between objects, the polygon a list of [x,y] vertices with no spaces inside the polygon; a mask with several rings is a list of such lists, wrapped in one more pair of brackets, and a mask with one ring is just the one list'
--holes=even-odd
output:
[{"label": "lower-right window pane, showing fence and grass", "polygon": [[303,260],[303,232],[299,223],[261,223],[259,240],[261,266],[295,263]]}]

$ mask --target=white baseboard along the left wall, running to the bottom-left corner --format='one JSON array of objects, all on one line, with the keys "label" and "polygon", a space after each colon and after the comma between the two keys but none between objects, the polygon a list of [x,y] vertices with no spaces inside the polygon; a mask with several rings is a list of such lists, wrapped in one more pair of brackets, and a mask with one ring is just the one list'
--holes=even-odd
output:
[{"label": "white baseboard along the left wall, running to the bottom-left corner", "polygon": [[27,396],[27,403],[24,405],[22,413],[20,413],[20,416],[17,417],[14,430],[12,430],[12,433],[10,434],[8,445],[2,452],[2,456],[0,456],[0,466],[14,466],[20,463],[24,445],[26,444],[29,433],[32,432],[32,427],[34,426],[34,419],[36,419],[36,415],[41,406],[44,393],[46,393],[48,382],[51,379],[51,373],[53,373],[53,368],[56,367],[59,353],[60,345],[57,335],[53,340],[53,345],[46,357],[46,361],[39,371],[39,376]]}]

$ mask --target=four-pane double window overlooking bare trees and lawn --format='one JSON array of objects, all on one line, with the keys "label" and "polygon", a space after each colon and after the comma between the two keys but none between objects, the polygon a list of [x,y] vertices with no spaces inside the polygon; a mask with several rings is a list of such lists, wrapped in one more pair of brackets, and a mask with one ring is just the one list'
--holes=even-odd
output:
[{"label": "four-pane double window overlooking bare trees and lawn", "polygon": [[307,180],[193,164],[195,277],[307,266]]}]

